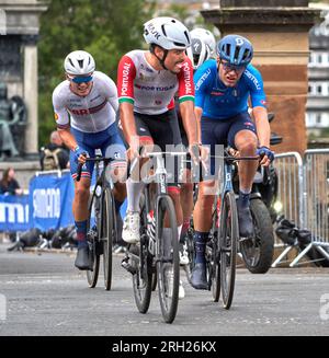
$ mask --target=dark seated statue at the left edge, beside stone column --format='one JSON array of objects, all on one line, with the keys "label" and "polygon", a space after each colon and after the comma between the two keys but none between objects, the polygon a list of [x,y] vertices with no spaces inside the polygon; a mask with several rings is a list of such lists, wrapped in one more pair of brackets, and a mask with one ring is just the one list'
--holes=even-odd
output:
[{"label": "dark seated statue at the left edge, beside stone column", "polygon": [[0,82],[0,160],[19,158],[23,151],[26,107],[15,95],[8,100],[7,84]]}]

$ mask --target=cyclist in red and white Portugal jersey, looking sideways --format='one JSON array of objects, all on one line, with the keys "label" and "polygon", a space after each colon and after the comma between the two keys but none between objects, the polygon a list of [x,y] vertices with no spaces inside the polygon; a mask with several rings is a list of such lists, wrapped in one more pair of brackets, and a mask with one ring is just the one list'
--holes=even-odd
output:
[{"label": "cyclist in red and white Portugal jersey, looking sideways", "polygon": [[[193,68],[185,55],[191,45],[188,28],[172,18],[156,18],[144,25],[149,50],[133,50],[120,61],[117,89],[123,132],[128,145],[128,158],[139,155],[140,146],[157,145],[162,151],[168,145],[180,145],[181,136],[174,109],[179,93],[180,109],[190,150],[198,148],[194,108]],[[139,197],[141,181],[127,180],[127,215],[123,240],[139,241]],[[182,224],[182,208],[177,183],[170,184],[178,224]],[[180,230],[180,229],[179,229]]]}]

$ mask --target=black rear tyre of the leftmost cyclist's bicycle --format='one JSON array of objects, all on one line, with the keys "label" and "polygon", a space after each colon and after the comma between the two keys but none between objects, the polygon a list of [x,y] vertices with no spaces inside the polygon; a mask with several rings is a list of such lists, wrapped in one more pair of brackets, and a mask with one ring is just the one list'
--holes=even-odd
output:
[{"label": "black rear tyre of the leftmost cyclist's bicycle", "polygon": [[[88,220],[87,220],[87,232],[90,232],[90,221],[91,221],[91,215],[92,215],[92,209],[93,206],[95,205],[95,200],[97,200],[97,196],[95,194],[93,194],[90,199],[89,199],[89,205],[88,205]],[[97,230],[98,233],[101,232],[101,224],[98,221],[97,222]],[[98,253],[97,250],[97,244],[98,242],[93,241],[89,249],[89,254],[91,255],[91,259],[92,259],[92,267],[93,270],[87,270],[87,281],[90,288],[95,288],[97,284],[98,284],[98,279],[99,279],[99,272],[100,272],[100,255]]]}]

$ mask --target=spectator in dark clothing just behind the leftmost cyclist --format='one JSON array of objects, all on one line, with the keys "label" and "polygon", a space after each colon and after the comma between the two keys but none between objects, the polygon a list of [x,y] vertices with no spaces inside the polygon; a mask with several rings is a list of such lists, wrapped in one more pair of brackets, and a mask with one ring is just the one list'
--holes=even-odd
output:
[{"label": "spectator in dark clothing just behind the leftmost cyclist", "polygon": [[64,146],[58,131],[54,130],[50,134],[50,142],[42,148],[41,151],[41,168],[43,171],[63,170],[69,168],[69,151]]}]

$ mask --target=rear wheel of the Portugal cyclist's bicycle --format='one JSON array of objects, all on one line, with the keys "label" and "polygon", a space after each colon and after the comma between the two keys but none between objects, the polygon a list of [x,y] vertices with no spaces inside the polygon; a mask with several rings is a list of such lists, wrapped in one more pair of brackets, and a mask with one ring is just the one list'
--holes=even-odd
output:
[{"label": "rear wheel of the Portugal cyclist's bicycle", "polygon": [[149,308],[152,291],[151,257],[148,253],[148,240],[146,235],[146,212],[145,208],[140,212],[140,242],[139,245],[131,246],[131,257],[134,270],[133,289],[137,309],[140,313],[146,313]]}]

